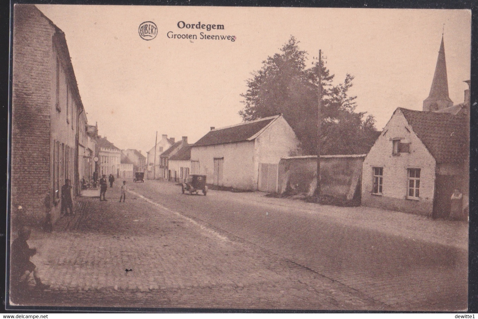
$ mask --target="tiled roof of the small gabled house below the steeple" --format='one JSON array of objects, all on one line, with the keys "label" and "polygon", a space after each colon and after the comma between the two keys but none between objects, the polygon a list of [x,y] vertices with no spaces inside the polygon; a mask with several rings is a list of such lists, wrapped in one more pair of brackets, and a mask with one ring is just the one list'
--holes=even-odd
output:
[{"label": "tiled roof of the small gabled house below the steeple", "polygon": [[466,116],[399,109],[437,163],[465,161],[468,154]]}]

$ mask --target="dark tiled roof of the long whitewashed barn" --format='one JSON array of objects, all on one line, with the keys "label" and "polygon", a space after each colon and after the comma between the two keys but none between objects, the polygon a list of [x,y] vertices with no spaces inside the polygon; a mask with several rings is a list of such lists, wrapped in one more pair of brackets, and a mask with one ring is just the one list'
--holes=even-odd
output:
[{"label": "dark tiled roof of the long whitewashed barn", "polygon": [[199,141],[194,143],[193,146],[206,146],[248,141],[252,136],[260,132],[279,116],[280,115],[271,116],[268,118],[211,130],[207,132],[207,134],[204,135]]}]

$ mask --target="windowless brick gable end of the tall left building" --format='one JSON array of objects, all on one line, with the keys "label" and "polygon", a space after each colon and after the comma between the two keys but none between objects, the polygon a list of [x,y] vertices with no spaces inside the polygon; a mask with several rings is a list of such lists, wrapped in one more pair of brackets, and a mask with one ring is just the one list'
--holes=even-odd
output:
[{"label": "windowless brick gable end of the tall left building", "polygon": [[[32,5],[15,5],[13,31],[11,203],[43,225],[50,184],[50,105],[54,28]],[[12,209],[12,220],[16,209]]]}]

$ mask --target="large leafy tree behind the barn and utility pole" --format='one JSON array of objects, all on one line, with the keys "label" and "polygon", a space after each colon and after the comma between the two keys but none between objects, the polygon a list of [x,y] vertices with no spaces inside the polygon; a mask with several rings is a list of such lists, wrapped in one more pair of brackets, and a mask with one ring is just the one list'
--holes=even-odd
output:
[{"label": "large leafy tree behind the barn and utility pole", "polygon": [[264,60],[260,70],[247,80],[241,94],[244,121],[282,113],[302,143],[306,154],[316,154],[318,68],[322,68],[322,154],[367,153],[377,136],[374,119],[356,113],[355,96],[348,96],[353,76],[333,86],[334,75],[324,66],[306,68],[307,52],[291,36],[280,53]]}]

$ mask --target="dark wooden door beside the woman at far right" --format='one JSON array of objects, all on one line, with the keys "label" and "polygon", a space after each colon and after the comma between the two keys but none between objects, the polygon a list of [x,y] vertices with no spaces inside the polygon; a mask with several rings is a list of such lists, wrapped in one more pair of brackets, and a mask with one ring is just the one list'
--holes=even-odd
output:
[{"label": "dark wooden door beside the woman at far right", "polygon": [[436,175],[433,218],[447,218],[450,215],[451,194],[455,187],[452,175]]}]

